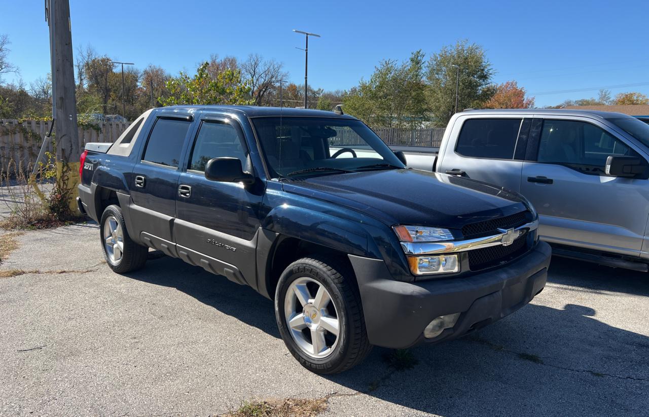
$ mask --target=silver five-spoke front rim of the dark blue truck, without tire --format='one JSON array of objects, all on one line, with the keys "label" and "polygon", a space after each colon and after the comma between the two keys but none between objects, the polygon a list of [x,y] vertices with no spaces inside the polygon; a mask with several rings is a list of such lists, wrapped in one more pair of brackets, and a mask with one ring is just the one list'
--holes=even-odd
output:
[{"label": "silver five-spoke front rim of the dark blue truck, without tire", "polygon": [[284,297],[284,317],[297,346],[320,359],[336,349],[340,322],[324,285],[310,277],[293,281]]}]

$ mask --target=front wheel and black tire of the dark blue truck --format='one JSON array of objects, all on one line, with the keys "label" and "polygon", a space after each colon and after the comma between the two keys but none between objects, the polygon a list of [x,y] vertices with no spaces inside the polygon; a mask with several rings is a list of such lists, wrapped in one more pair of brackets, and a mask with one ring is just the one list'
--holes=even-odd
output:
[{"label": "front wheel and black tire of the dark blue truck", "polygon": [[290,264],[275,291],[275,318],[293,357],[315,373],[348,370],[372,348],[353,272],[335,258]]}]

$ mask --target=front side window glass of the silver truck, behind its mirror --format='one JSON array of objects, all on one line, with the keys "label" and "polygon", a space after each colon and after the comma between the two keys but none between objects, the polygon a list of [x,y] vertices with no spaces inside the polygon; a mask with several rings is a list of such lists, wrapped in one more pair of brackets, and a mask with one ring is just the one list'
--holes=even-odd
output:
[{"label": "front side window glass of the silver truck, behind its mirror", "polygon": [[545,120],[538,162],[565,164],[583,173],[604,173],[609,155],[637,153],[603,129],[585,121]]}]

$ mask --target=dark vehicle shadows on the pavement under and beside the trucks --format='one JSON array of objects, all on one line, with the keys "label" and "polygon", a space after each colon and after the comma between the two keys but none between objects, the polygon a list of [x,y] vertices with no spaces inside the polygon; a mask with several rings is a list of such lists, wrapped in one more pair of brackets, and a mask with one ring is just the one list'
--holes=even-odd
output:
[{"label": "dark vehicle shadows on the pavement under and beside the trucks", "polygon": [[[646,279],[636,273],[617,270],[618,279],[611,282],[610,277],[606,281],[609,269],[556,261],[551,283],[579,286],[585,291],[647,294]],[[152,260],[145,270],[129,276],[177,288],[268,335],[280,337],[273,303],[247,286],[167,257]],[[546,292],[550,290],[546,288]],[[546,300],[544,296],[541,293],[533,304],[478,333],[446,344],[410,349],[415,361],[410,369],[397,370],[386,360],[389,349],[374,348],[353,370],[324,378],[369,396],[365,400],[354,397],[354,401],[377,398],[442,416],[646,412],[649,337],[598,320],[596,310],[576,301],[578,294],[561,308],[539,305],[554,299],[554,295],[546,296]],[[305,386],[304,395],[313,396],[313,392],[317,390]],[[330,401],[352,400],[341,395]],[[393,412],[386,410],[384,414]]]}]

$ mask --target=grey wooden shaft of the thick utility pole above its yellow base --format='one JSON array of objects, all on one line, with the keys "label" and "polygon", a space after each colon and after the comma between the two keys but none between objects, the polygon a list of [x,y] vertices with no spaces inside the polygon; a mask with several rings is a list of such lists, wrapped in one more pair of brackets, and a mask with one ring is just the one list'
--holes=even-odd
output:
[{"label": "grey wooden shaft of the thick utility pole above its yellow base", "polygon": [[77,131],[70,5],[68,0],[48,0],[46,6],[52,54],[52,118],[56,129],[56,160],[79,163],[81,151]]}]

